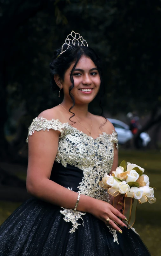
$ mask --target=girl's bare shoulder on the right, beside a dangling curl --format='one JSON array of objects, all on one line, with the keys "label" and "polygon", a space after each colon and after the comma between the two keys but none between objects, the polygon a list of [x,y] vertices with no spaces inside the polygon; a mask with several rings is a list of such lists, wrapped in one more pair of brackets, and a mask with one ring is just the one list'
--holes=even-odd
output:
[{"label": "girl's bare shoulder on the right, beside a dangling curl", "polygon": [[100,129],[103,132],[106,132],[107,134],[112,134],[113,131],[115,131],[115,127],[113,126],[113,124],[108,120],[100,115],[93,115],[93,118],[98,122],[98,124],[100,125]]}]

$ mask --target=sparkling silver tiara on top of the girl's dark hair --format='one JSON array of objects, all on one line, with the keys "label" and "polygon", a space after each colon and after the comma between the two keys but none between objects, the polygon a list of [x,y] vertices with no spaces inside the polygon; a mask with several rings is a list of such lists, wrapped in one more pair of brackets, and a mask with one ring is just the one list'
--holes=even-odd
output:
[{"label": "sparkling silver tiara on top of the girl's dark hair", "polygon": [[[65,52],[69,47],[75,46],[76,42],[77,42],[77,46],[87,46],[88,47],[87,42],[83,39],[82,36],[80,36],[80,34],[75,33],[74,31],[71,31],[71,34],[69,34],[67,36],[67,38],[65,39],[65,43],[62,45],[62,51],[60,54]],[[64,45],[68,45],[68,47],[63,51]]]}]

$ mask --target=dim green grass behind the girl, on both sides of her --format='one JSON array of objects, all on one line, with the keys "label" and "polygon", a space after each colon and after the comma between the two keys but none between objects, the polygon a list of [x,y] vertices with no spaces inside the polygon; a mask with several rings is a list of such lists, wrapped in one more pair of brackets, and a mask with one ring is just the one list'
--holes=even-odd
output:
[{"label": "dim green grass behind the girl, on both sides of her", "polygon": [[[157,190],[154,191],[154,195],[157,198],[155,204],[138,204],[137,217],[134,224],[134,228],[140,234],[140,237],[148,247],[152,256],[161,255],[161,153],[155,151],[131,151],[120,150],[119,151],[119,163],[122,160],[126,160],[130,163],[138,164],[145,169],[144,174],[149,176],[150,185]],[[21,174],[17,175],[20,178]],[[0,201],[0,224],[10,216],[10,214],[21,203]]]}]

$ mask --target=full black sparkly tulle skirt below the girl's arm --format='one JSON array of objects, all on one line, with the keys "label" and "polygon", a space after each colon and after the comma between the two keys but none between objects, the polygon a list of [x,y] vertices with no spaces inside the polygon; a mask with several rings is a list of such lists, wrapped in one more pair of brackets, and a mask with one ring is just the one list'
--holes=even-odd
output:
[{"label": "full black sparkly tulle skirt below the girl's arm", "polygon": [[[119,245],[104,222],[86,213],[84,226],[69,233],[62,208],[31,197],[0,226],[0,256],[148,256],[131,229],[117,233]],[[82,224],[82,220],[78,220]]]}]

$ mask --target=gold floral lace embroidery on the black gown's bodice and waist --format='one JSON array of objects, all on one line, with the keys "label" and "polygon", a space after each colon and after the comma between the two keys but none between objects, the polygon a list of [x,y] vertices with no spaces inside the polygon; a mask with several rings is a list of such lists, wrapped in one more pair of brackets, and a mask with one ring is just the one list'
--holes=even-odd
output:
[{"label": "gold floral lace embroidery on the black gown's bodice and waist", "polygon": [[[34,131],[54,129],[61,132],[59,137],[58,150],[55,161],[61,163],[64,167],[67,164],[83,170],[82,182],[79,183],[78,193],[84,194],[99,200],[109,202],[108,193],[99,186],[99,182],[104,177],[104,173],[109,173],[113,164],[114,143],[117,144],[117,132],[112,134],[99,135],[96,139],[72,127],[69,123],[61,123],[59,119],[47,120],[45,118],[36,117],[33,119],[29,127],[29,135]],[[28,142],[28,137],[26,139]],[[61,207],[63,208],[63,207]],[[75,232],[79,224],[78,219],[82,219],[81,215],[85,212],[74,211],[72,209],[63,208],[60,211],[65,217],[66,222],[72,223],[70,233]],[[117,241],[115,230],[110,229],[114,236],[114,241]]]}]

